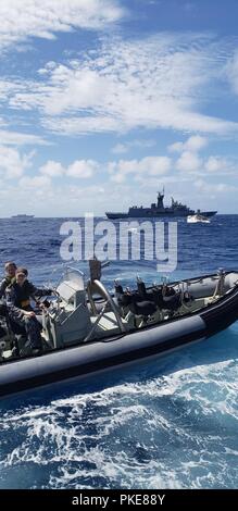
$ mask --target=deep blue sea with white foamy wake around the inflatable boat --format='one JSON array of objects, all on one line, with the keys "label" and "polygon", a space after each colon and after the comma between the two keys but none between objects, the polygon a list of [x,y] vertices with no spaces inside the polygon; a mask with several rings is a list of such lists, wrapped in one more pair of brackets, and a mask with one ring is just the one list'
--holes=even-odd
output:
[{"label": "deep blue sea with white foamy wake around the inflatable boat", "polygon": [[[37,285],[62,273],[62,219],[0,220],[1,266]],[[74,263],[87,273],[86,263]],[[178,222],[171,279],[238,270],[238,215]],[[3,272],[2,272],[3,273]],[[135,286],[159,281],[153,261],[103,272]],[[238,488],[238,323],[153,361],[0,401],[0,488]]]}]

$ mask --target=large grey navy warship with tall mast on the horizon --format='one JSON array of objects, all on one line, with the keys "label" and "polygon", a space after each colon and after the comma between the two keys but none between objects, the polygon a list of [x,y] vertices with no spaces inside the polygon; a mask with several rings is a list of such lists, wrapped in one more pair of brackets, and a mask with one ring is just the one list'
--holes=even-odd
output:
[{"label": "large grey navy warship with tall mast on the horizon", "polygon": [[108,219],[147,219],[147,217],[166,217],[166,216],[184,216],[187,217],[193,214],[200,214],[202,216],[211,217],[214,216],[217,211],[200,211],[191,210],[187,205],[174,200],[172,197],[171,205],[164,205],[164,190],[163,192],[158,191],[158,200],[153,202],[150,208],[143,208],[142,205],[131,205],[128,213],[118,212],[105,212]]}]

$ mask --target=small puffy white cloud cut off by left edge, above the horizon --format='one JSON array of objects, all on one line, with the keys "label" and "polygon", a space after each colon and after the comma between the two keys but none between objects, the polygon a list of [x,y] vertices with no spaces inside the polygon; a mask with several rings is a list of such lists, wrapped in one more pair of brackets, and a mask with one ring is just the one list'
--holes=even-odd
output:
[{"label": "small puffy white cloud cut off by left edge, above the horizon", "polygon": [[32,165],[34,152],[21,154],[16,149],[0,146],[0,173],[3,178],[14,179]]}]

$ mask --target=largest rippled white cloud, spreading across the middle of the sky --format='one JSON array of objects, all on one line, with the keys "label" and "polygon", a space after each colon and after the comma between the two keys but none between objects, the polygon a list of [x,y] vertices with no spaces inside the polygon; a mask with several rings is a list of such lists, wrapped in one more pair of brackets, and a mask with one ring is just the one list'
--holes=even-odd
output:
[{"label": "largest rippled white cloud, spreading across the middle of the sky", "polygon": [[[221,135],[238,125],[199,113],[206,86],[216,78],[220,51],[199,35],[107,40],[80,60],[48,63],[40,83],[12,92],[10,107],[38,109],[46,128],[67,135],[136,127]],[[186,149],[198,150],[201,144],[197,135]]]}]

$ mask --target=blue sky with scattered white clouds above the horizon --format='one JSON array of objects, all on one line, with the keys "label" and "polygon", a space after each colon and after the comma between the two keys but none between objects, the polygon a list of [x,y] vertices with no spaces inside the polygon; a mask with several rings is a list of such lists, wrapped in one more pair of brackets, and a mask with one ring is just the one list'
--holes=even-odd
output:
[{"label": "blue sky with scattered white clouds above the horizon", "polygon": [[238,213],[237,0],[2,0],[0,216]]}]

